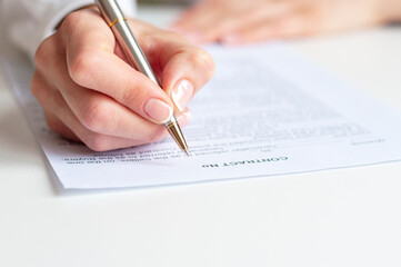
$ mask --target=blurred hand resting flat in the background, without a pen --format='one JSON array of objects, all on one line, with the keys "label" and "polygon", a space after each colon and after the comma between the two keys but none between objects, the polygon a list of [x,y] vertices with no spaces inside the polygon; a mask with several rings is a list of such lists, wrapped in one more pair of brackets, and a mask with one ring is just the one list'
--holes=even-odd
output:
[{"label": "blurred hand resting flat in the background, without a pen", "polygon": [[172,29],[196,43],[239,44],[401,20],[400,0],[204,0]]}]

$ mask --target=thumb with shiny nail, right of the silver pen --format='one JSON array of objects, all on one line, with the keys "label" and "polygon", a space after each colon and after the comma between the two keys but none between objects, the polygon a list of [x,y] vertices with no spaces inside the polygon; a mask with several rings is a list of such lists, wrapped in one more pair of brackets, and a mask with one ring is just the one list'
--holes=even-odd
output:
[{"label": "thumb with shiny nail, right of the silver pen", "polygon": [[153,69],[163,90],[171,97],[176,111],[182,111],[213,76],[214,61],[208,52],[180,34],[149,27],[141,27],[138,40],[151,65],[156,66]]}]

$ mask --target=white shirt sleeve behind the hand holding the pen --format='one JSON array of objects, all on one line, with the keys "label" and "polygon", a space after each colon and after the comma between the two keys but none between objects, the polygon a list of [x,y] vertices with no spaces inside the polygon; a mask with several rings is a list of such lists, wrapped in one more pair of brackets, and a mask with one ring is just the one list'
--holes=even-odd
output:
[{"label": "white shirt sleeve behind the hand holding the pen", "polygon": [[[3,0],[6,34],[31,59],[43,39],[71,11],[92,4],[93,0]],[[119,0],[127,17],[134,17],[136,1]]]}]

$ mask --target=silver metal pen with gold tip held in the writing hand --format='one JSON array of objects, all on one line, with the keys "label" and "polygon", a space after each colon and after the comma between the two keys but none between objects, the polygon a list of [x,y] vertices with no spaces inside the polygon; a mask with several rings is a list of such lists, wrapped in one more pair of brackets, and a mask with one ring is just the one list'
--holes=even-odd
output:
[{"label": "silver metal pen with gold tip held in the writing hand", "polygon": [[[130,27],[127,23],[127,19],[123,16],[119,4],[116,0],[94,0],[103,19],[111,28],[112,32],[119,44],[121,46],[127,59],[131,66],[143,75],[149,77],[154,83],[161,87],[158,78],[154,76],[152,68],[150,67],[147,58],[143,55],[142,49],[139,47],[137,39],[134,38]],[[182,151],[188,154],[188,145],[182,135],[181,128],[177,121],[176,116],[171,117],[171,120],[164,123],[166,129],[171,137],[176,140],[177,145]]]}]

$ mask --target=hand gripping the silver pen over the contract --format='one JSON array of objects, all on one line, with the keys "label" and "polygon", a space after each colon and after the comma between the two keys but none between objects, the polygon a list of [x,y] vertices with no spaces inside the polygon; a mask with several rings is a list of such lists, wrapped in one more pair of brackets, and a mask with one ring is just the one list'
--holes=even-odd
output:
[{"label": "hand gripping the silver pen over the contract", "polygon": [[98,151],[160,140],[173,110],[212,77],[214,63],[177,33],[129,20],[163,90],[131,68],[110,28],[92,8],[70,13],[36,55],[31,90],[49,127]]}]

